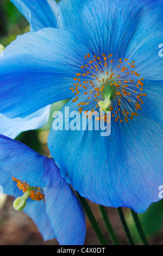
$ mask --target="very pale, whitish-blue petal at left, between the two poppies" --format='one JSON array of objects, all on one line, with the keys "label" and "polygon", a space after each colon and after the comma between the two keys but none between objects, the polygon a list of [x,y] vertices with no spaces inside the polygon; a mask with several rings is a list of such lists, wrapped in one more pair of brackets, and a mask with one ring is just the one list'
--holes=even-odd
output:
[{"label": "very pale, whitish-blue petal at left, between the two poppies", "polygon": [[10,119],[0,113],[0,133],[10,138],[15,138],[23,131],[40,129],[49,118],[51,106],[36,111],[26,118]]}]

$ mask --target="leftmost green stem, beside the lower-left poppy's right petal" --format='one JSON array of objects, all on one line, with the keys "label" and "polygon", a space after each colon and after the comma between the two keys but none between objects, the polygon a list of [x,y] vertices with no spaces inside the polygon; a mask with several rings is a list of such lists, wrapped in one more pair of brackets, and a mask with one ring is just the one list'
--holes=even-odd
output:
[{"label": "leftmost green stem, beside the lower-left poppy's right petal", "polygon": [[90,221],[90,223],[91,223],[91,225],[92,225],[92,227],[93,227],[93,229],[94,229],[94,231],[95,231],[95,233],[98,237],[99,242],[101,243],[101,245],[107,245],[105,237],[104,237],[101,229],[99,228],[99,225],[96,221],[96,218],[93,215],[93,212],[92,212],[89,204],[87,203],[86,199],[84,197],[81,197],[79,194],[78,194],[78,198],[80,199],[80,202],[83,205],[85,213],[86,213],[87,217],[89,218],[89,221]]}]

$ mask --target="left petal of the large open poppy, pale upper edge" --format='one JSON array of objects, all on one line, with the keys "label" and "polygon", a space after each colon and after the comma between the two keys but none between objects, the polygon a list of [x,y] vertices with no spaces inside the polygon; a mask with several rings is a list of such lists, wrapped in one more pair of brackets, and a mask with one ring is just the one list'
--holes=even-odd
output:
[{"label": "left petal of the large open poppy, pale upper edge", "polygon": [[73,78],[86,61],[85,52],[86,47],[71,33],[56,28],[18,36],[0,58],[1,113],[26,117],[70,99]]}]

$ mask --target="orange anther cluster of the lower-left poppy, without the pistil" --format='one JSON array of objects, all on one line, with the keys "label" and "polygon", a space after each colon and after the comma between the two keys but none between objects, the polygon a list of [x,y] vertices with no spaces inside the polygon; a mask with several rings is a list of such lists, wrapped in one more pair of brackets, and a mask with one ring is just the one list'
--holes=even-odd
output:
[{"label": "orange anther cluster of the lower-left poppy, without the pistil", "polygon": [[[12,177],[12,180],[17,183],[17,187],[22,190],[23,193],[27,192],[29,184],[26,181],[17,180],[14,177]],[[34,187],[33,190],[30,190],[29,198],[36,201],[41,201],[42,199],[45,201],[43,189],[40,187]]]}]

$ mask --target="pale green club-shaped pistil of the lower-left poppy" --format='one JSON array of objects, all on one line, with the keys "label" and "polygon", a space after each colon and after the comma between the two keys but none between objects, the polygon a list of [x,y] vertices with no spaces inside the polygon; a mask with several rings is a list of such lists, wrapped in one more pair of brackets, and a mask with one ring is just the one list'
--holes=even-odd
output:
[{"label": "pale green club-shaped pistil of the lower-left poppy", "polygon": [[33,187],[28,187],[28,190],[23,194],[22,197],[18,197],[14,200],[13,207],[16,211],[22,211],[26,207],[27,199],[30,196],[30,191],[33,190]]}]

